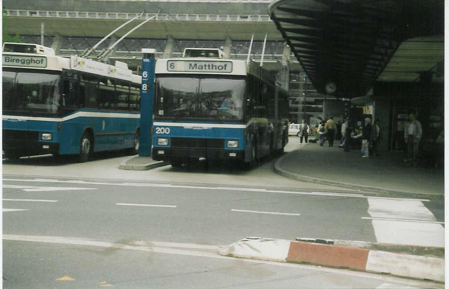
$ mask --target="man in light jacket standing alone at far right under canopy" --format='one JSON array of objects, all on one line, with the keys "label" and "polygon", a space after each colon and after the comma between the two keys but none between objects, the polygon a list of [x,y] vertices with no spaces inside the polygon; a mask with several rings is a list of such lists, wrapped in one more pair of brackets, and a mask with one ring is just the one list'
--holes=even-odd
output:
[{"label": "man in light jacket standing alone at far right under canopy", "polygon": [[404,131],[404,140],[407,144],[407,158],[405,159],[408,162],[408,165],[417,166],[417,155],[420,147],[422,136],[422,127],[421,122],[416,120],[416,116],[414,113],[409,115],[409,122],[407,122]]}]

